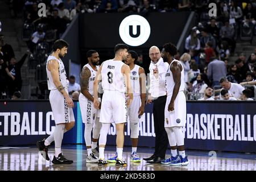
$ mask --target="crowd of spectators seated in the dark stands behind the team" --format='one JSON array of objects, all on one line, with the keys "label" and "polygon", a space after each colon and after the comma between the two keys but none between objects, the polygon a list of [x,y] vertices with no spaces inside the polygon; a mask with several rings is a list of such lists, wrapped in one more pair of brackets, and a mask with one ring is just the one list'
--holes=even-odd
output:
[{"label": "crowd of spectators seated in the dark stands behind the team", "polygon": [[[38,16],[40,2],[46,4],[46,17]],[[217,5],[216,18],[209,18],[210,2]],[[244,89],[249,89],[246,96],[254,97],[255,86],[248,86],[248,82],[255,79],[256,48],[249,57],[246,57],[245,53],[236,55],[236,40],[247,39],[250,43],[253,40],[256,32],[256,1],[12,0],[10,3],[15,16],[22,13],[22,38],[27,43],[29,51],[16,62],[13,48],[5,43],[4,35],[0,35],[1,98],[11,98],[14,93],[19,93],[20,96],[20,68],[26,57],[30,57],[29,64],[32,60],[37,60],[36,64],[45,62],[52,43],[61,37],[76,14],[123,12],[146,15],[151,12],[172,11],[196,12],[197,26],[192,28],[185,39],[185,52],[176,55],[176,59],[183,63],[187,99],[197,100],[210,93],[211,96],[205,97],[206,99],[225,100],[222,97],[225,93],[219,90],[224,88],[220,82],[222,78],[226,78],[224,82],[230,82],[232,85],[243,85]],[[234,64],[229,63],[230,56],[237,56]],[[141,59],[142,56],[139,60],[142,63]],[[143,67],[143,64],[140,65]],[[231,93],[230,95],[233,96]],[[242,95],[241,93],[236,99],[242,99]]]}]

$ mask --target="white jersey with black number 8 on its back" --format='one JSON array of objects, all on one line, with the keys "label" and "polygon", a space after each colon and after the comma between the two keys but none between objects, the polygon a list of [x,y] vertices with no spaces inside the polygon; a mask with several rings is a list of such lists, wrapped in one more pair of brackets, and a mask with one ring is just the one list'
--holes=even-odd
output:
[{"label": "white jersey with black number 8 on its back", "polygon": [[122,61],[106,60],[102,63],[102,89],[112,90],[125,93],[125,79],[121,72],[122,66],[125,64]]}]

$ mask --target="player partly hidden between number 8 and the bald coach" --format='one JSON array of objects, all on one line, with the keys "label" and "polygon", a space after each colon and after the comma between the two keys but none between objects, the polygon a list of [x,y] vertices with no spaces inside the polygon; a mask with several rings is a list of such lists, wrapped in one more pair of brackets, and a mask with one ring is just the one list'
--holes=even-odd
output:
[{"label": "player partly hidden between number 8 and the bald coach", "polygon": [[[127,109],[131,129],[131,159],[130,162],[141,162],[141,158],[137,155],[138,137],[139,137],[139,118],[144,113],[146,101],[146,75],[144,69],[134,64],[138,55],[135,51],[128,51],[129,55],[125,64],[130,67],[131,85],[133,86],[133,102]],[[107,162],[115,163],[117,161],[117,153]]]}]

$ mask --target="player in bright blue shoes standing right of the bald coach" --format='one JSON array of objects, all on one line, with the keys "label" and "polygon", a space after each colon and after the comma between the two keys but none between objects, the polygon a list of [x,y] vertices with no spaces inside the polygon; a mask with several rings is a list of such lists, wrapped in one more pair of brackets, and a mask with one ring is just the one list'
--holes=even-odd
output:
[{"label": "player in bright blue shoes standing right of the bald coach", "polygon": [[[166,43],[162,49],[162,57],[170,64],[166,73],[167,100],[164,109],[164,127],[171,146],[171,157],[163,160],[162,164],[187,165],[185,155],[184,135],[182,127],[186,123],[186,98],[184,94],[184,68],[180,61],[175,60],[177,48]],[[176,147],[177,146],[177,147]],[[177,148],[179,154],[177,154]]]}]

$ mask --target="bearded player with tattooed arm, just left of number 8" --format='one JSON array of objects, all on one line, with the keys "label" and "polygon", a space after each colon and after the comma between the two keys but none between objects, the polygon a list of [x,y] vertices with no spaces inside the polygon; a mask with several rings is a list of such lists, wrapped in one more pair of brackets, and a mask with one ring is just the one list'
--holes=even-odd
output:
[{"label": "bearded player with tattooed arm, just left of number 8", "polygon": [[[84,65],[81,72],[81,94],[79,104],[82,114],[82,122],[85,124],[84,139],[87,148],[86,163],[98,163],[98,151],[96,150],[100,135],[101,123],[93,106],[93,81],[100,64],[100,56],[97,51],[89,50],[86,53],[88,64]],[[92,138],[93,131],[93,138]]]}]

